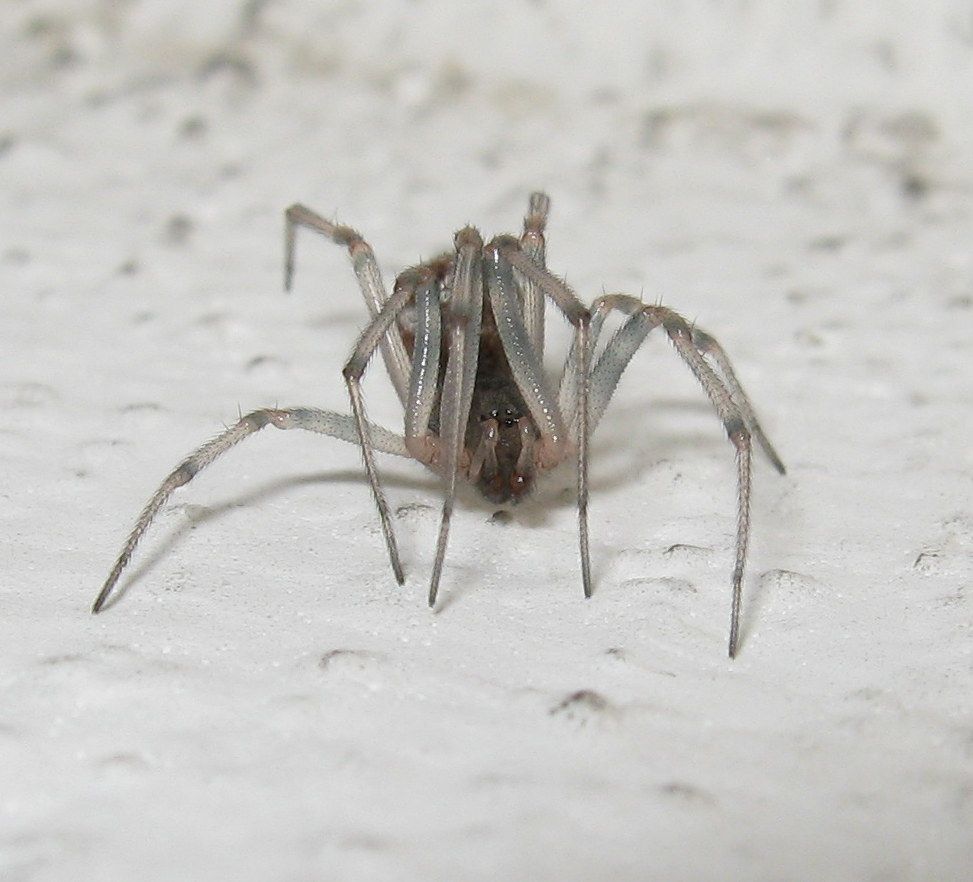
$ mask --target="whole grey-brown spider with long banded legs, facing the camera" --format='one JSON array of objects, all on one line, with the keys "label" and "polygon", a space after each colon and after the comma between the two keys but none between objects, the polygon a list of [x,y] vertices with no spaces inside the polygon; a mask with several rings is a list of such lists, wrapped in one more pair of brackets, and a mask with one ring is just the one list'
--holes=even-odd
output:
[{"label": "whole grey-brown spider with long banded legs, facing the camera", "polygon": [[[751,439],[778,472],[784,465],[760,428],[729,359],[716,340],[668,307],[625,294],[597,298],[589,309],[545,264],[544,231],[550,199],[530,196],[520,238],[501,235],[484,244],[464,227],[453,250],[401,272],[391,295],[371,247],[350,227],[303,205],[286,212],[285,288],[294,275],[298,228],[320,233],[348,249],[371,320],[344,366],[351,413],[310,407],[262,408],[248,413],[186,457],[149,499],[105,581],[92,612],[111,597],[136,546],[176,488],[230,448],[264,428],[305,429],[357,444],[378,509],[396,581],[405,581],[389,505],[375,452],[418,460],[439,474],[444,502],[429,605],[435,606],[459,481],[476,485],[494,503],[516,502],[537,475],[568,459],[577,464],[581,581],[591,596],[588,552],[588,450],[622,372],[649,332],[661,327],[703,387],[736,451],[737,524],[732,574],[729,655],[737,651],[743,571],[750,536]],[[573,327],[560,381],[545,374],[545,298]],[[622,323],[603,345],[606,318]],[[365,416],[361,382],[378,350],[405,410],[397,435]]]}]

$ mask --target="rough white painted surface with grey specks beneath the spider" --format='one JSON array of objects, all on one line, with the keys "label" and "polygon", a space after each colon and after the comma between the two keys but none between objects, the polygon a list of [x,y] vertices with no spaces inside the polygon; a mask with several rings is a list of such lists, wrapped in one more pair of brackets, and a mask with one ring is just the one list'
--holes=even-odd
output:
[{"label": "rough white painted surface with grey specks beneath the spider", "polygon": [[[973,13],[608,8],[0,12],[5,882],[969,878]],[[569,473],[464,500],[434,615],[435,480],[383,461],[399,589],[354,448],[268,429],[88,614],[221,421],[344,407],[365,310],[310,236],[279,293],[287,204],[391,278],[538,187],[551,266],[716,334],[788,464],[735,662],[732,455],[661,340],[596,437],[589,601]]]}]

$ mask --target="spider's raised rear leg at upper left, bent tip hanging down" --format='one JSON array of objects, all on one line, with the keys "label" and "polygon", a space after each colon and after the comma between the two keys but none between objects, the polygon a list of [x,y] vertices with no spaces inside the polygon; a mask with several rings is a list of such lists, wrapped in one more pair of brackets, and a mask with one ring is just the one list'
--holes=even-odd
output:
[{"label": "spider's raised rear leg at upper left, bent tip hanging down", "polygon": [[[290,291],[294,279],[297,228],[306,227],[322,236],[327,236],[336,245],[343,245],[348,249],[362,296],[374,319],[388,300],[388,295],[375,253],[361,233],[351,227],[335,224],[300,204],[288,208],[284,218],[284,288]],[[385,368],[399,396],[399,401],[404,405],[409,387],[409,355],[402,334],[394,322],[389,326],[380,345]]]}]

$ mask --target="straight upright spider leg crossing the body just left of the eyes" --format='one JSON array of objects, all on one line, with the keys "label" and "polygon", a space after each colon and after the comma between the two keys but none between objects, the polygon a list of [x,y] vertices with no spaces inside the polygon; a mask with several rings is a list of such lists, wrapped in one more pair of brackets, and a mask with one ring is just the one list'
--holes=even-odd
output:
[{"label": "straight upright spider leg crossing the body just left of the eyes", "polygon": [[443,464],[446,492],[436,541],[436,559],[429,580],[430,606],[436,603],[446,559],[449,525],[456,500],[456,477],[473,399],[483,318],[483,240],[475,229],[466,227],[456,234],[455,246],[456,264],[445,329],[449,358],[439,410],[439,434],[446,453]]}]

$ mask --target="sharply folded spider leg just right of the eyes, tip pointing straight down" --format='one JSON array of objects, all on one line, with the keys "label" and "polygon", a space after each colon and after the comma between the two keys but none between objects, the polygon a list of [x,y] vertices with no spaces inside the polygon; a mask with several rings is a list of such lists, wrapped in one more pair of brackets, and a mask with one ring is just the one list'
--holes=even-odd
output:
[{"label": "sharply folded spider leg just right of the eyes, tip pointing straight down", "polygon": [[[578,536],[581,554],[581,581],[585,597],[591,596],[591,558],[588,538],[588,362],[591,356],[589,325],[591,313],[575,293],[560,279],[538,266],[521,250],[516,239],[498,236],[487,247],[487,289],[511,373],[541,433],[536,462],[539,468],[552,468],[563,461],[572,440],[578,453]],[[572,439],[558,401],[544,373],[542,353],[530,341],[521,318],[517,278],[520,273],[547,297],[574,325],[574,348],[578,353],[577,430]]]}]

